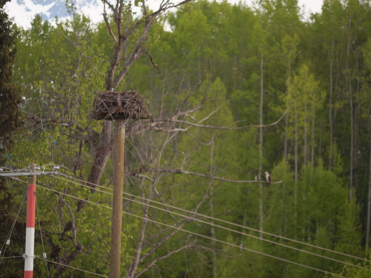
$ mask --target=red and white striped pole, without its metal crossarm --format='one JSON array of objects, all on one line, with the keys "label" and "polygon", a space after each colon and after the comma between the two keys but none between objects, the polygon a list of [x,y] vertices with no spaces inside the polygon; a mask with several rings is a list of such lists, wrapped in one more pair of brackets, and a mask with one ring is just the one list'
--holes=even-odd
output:
[{"label": "red and white striped pole, without its metal crossarm", "polygon": [[[35,172],[35,165],[31,166]],[[29,176],[27,192],[27,224],[26,224],[26,249],[24,252],[24,278],[33,277],[33,258],[35,246],[35,196],[36,176]]]}]

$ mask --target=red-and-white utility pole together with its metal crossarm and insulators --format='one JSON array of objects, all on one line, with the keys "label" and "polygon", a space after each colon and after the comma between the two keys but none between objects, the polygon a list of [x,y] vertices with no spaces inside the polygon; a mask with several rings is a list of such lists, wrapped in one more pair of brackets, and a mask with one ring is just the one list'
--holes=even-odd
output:
[{"label": "red-and-white utility pole together with its metal crossarm and insulators", "polygon": [[[14,177],[14,176],[28,176],[28,188],[27,188],[27,218],[26,218],[26,247],[24,250],[24,278],[33,277],[33,259],[35,258],[34,247],[35,247],[35,203],[36,203],[36,176],[50,176],[60,175],[57,171],[58,166],[53,168],[54,172],[37,172],[40,167],[31,165],[30,171],[28,172],[7,172],[1,173],[3,177]],[[24,169],[23,169],[24,170]],[[3,171],[0,168],[0,171]],[[22,171],[22,170],[20,170]],[[10,240],[10,238],[9,238]],[[44,258],[46,254],[44,253]]]}]

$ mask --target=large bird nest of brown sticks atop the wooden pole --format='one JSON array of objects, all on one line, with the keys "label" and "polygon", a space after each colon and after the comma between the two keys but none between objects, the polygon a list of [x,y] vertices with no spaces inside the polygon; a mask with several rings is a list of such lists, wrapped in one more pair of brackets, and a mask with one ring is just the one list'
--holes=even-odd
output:
[{"label": "large bird nest of brown sticks atop the wooden pole", "polygon": [[145,99],[137,91],[99,92],[89,116],[98,119],[139,119],[141,115],[148,113],[144,103]]}]

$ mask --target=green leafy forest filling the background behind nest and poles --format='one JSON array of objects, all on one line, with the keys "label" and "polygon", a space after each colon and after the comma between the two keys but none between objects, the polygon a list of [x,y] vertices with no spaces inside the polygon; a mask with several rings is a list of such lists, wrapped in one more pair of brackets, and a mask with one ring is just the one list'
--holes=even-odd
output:
[{"label": "green leafy forest filling the background behind nest and poles", "polygon": [[[119,25],[66,4],[56,26],[8,23],[23,122],[1,130],[1,166],[67,175],[37,178],[37,276],[108,275],[113,128],[89,111],[113,87],[154,115],[127,122],[123,277],[369,277],[369,1],[325,0],[309,21],[296,0],[191,1],[153,22],[121,1]],[[1,257],[23,254],[24,206],[3,242],[25,182],[1,182]],[[5,257],[1,276],[22,276]]]}]

